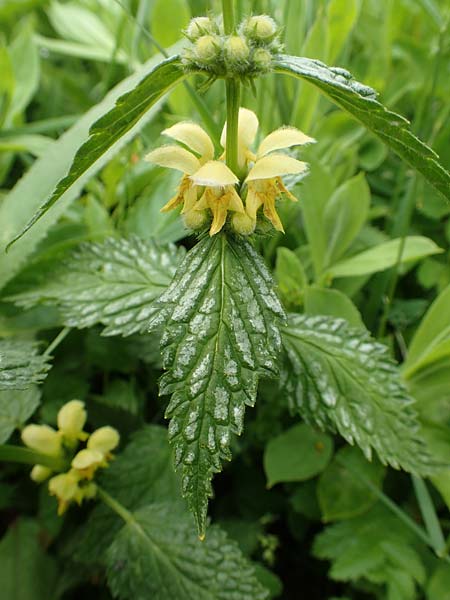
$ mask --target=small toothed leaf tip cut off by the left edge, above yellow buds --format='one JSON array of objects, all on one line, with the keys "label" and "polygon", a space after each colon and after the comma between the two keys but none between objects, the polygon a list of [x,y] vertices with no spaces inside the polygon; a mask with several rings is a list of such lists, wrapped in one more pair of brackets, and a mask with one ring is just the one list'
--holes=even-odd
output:
[{"label": "small toothed leaf tip cut off by the left edge, above yellow buds", "polygon": [[25,389],[42,381],[49,358],[39,354],[36,342],[0,340],[0,390]]}]

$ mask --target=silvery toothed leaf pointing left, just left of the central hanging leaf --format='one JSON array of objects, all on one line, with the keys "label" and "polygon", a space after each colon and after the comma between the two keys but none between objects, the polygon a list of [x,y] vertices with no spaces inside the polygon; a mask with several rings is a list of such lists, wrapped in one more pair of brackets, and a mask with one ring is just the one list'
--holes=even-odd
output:
[{"label": "silvery toothed leaf pointing left, just left of the central hanging leaf", "polygon": [[10,299],[27,308],[56,304],[68,327],[102,323],[104,335],[143,333],[182,256],[175,246],[137,237],[83,244],[50,282]]}]

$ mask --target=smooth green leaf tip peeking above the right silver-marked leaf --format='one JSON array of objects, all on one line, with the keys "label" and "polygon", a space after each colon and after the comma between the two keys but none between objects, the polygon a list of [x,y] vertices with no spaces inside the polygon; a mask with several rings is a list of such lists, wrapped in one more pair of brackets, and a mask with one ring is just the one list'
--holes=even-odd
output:
[{"label": "smooth green leaf tip peeking above the right silver-marked leaf", "polygon": [[352,327],[364,329],[361,314],[348,296],[339,290],[312,285],[305,291],[305,313],[345,319]]}]

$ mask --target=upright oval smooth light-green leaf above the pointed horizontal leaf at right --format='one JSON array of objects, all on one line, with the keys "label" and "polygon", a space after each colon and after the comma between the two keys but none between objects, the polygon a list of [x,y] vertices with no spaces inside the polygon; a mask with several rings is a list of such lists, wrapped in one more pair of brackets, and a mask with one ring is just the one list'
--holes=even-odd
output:
[{"label": "upright oval smooth light-green leaf above the pointed horizontal leaf at right", "polygon": [[343,183],[327,202],[324,213],[328,240],[325,265],[338,261],[364,225],[370,207],[370,189],[364,174]]}]

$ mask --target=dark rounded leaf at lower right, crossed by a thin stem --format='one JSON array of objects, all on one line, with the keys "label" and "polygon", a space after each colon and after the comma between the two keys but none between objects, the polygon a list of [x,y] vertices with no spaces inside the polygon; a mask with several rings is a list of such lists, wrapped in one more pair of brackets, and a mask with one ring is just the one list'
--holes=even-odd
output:
[{"label": "dark rounded leaf at lower right, crossed by a thin stem", "polygon": [[380,463],[368,462],[358,448],[341,448],[320,476],[317,486],[325,522],[352,519],[368,511],[377,501],[375,494],[355,476],[354,471],[362,473],[365,479],[381,488],[385,469]]}]

